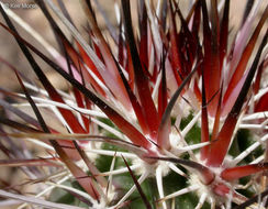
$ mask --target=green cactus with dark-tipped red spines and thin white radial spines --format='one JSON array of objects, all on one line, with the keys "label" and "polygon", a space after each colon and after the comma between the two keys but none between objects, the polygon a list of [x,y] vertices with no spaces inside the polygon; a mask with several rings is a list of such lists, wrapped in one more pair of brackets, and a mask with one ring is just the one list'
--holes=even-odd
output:
[{"label": "green cactus with dark-tipped red spines and thin white radial spines", "polygon": [[[268,3],[243,2],[234,31],[232,1],[189,2],[185,11],[175,0],[138,0],[136,8],[130,0],[109,1],[115,26],[98,0],[81,0],[86,41],[64,1],[36,0],[58,47],[1,4],[1,29],[43,86],[0,57],[23,91],[1,88],[13,102],[0,99],[0,165],[19,166],[26,176],[22,185],[1,183],[2,206],[14,199],[19,208],[267,207]],[[53,58],[21,36],[13,21]],[[32,54],[69,82],[68,91],[51,84]],[[14,141],[45,152],[36,155]],[[33,196],[20,190],[29,184],[35,184]]]}]

